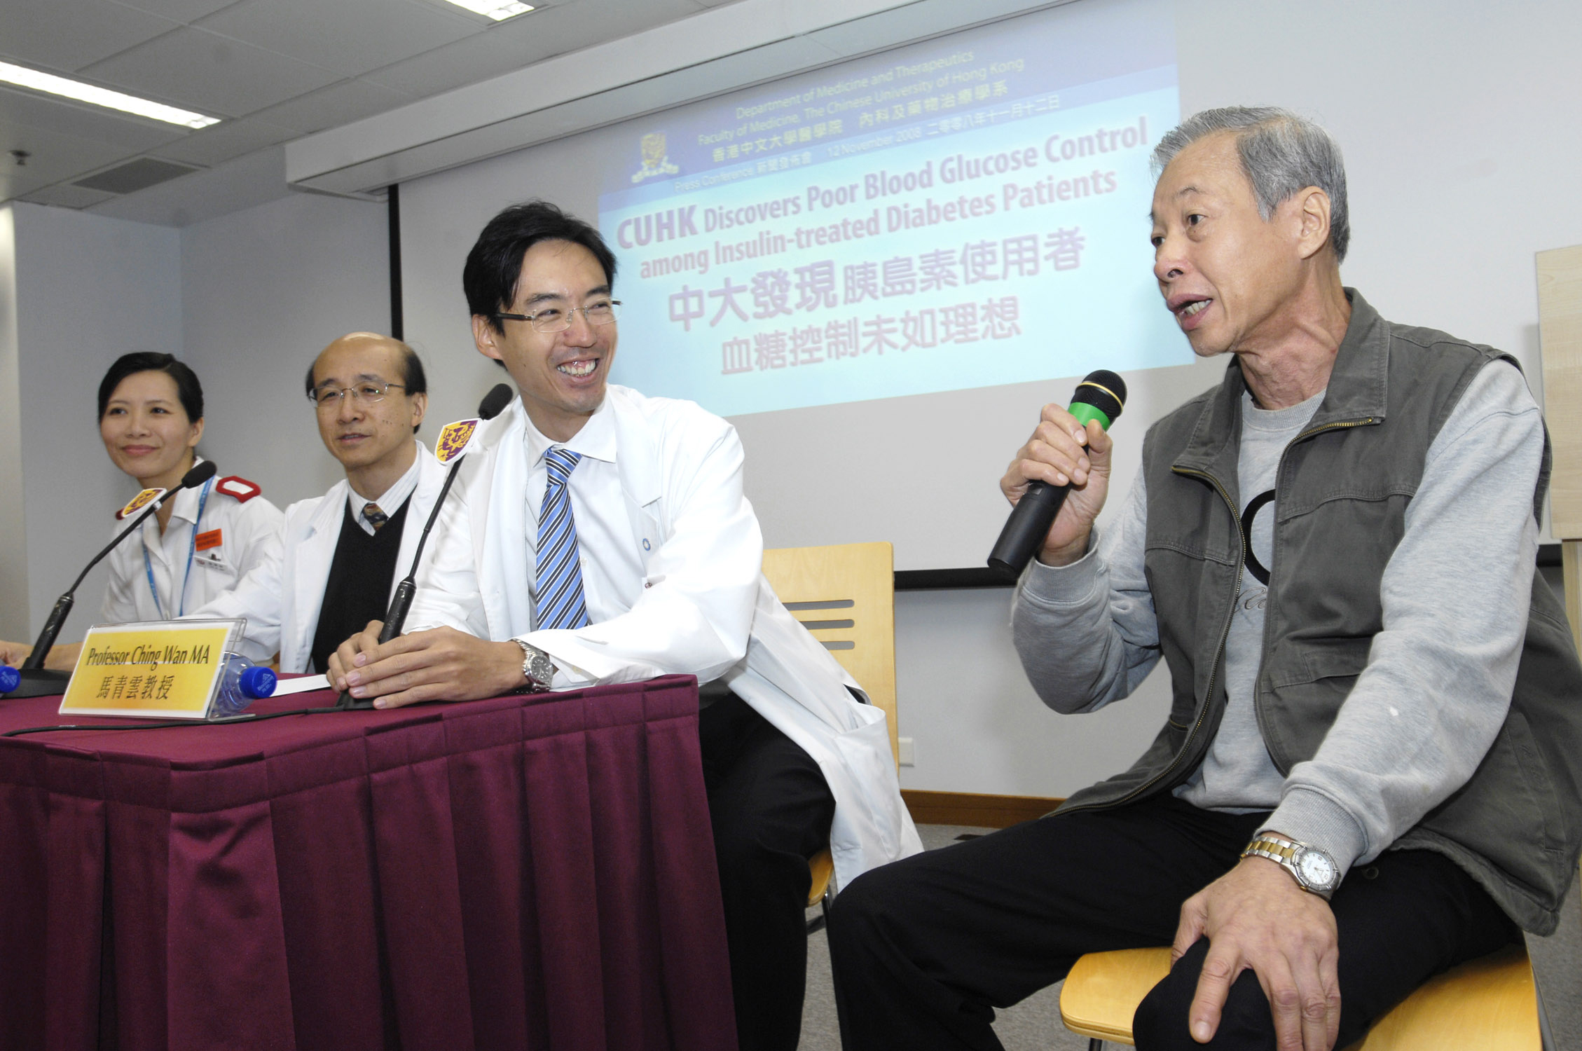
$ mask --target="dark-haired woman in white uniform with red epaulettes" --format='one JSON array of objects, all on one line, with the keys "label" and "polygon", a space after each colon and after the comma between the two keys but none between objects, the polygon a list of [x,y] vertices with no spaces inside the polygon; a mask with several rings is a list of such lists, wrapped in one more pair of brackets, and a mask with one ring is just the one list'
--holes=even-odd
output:
[{"label": "dark-haired woman in white uniform with red epaulettes", "polygon": [[[100,383],[98,416],[104,451],[141,489],[176,489],[201,461],[202,386],[171,355],[122,355]],[[177,492],[109,554],[100,620],[174,620],[198,609],[255,565],[280,560],[282,522],[280,510],[245,478],[210,478]],[[122,529],[117,516],[114,532]],[[30,649],[0,643],[0,658],[17,663]],[[71,668],[79,649],[55,646],[46,666]],[[275,647],[272,638],[248,636],[239,649],[269,660]]]}]

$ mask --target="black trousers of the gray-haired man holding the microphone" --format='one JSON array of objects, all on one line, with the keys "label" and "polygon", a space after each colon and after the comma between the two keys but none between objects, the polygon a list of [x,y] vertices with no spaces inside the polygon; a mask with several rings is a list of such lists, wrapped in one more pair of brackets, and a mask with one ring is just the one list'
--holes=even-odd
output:
[{"label": "black trousers of the gray-haired man holding the microphone", "polygon": [[[1180,904],[1236,866],[1269,814],[1201,810],[1172,796],[1079,810],[932,850],[851,882],[829,920],[846,1051],[998,1048],[990,1023],[1065,978],[1084,953],[1169,945]],[[1471,877],[1425,850],[1387,852],[1335,891],[1348,1046],[1435,973],[1520,931]],[[1207,940],[1137,1008],[1137,1048],[1274,1048],[1251,970],[1231,986],[1210,1045],[1186,1010]]]}]

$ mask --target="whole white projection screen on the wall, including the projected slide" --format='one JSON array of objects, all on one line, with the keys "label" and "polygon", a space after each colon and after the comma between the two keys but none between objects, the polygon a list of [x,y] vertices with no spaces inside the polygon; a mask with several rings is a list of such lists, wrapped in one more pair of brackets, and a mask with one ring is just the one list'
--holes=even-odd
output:
[{"label": "whole white projection screen on the wall, including the projected slide", "polygon": [[1218,374],[1150,269],[1174,47],[1160,0],[1076,3],[407,184],[407,336],[443,362],[435,408],[468,415],[500,377],[460,293],[473,237],[544,198],[617,252],[614,381],[736,424],[769,546],[981,567],[1041,405],[1092,369],[1126,378],[1123,489],[1142,424]]}]

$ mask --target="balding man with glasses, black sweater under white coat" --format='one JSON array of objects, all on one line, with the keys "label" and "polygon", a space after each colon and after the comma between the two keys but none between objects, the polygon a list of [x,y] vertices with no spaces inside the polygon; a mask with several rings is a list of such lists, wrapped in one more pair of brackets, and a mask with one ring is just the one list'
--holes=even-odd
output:
[{"label": "balding man with glasses, black sweater under white coat", "polygon": [[278,630],[282,671],[324,671],[335,646],[384,616],[445,484],[445,469],[413,437],[429,388],[411,347],[350,332],[318,355],[304,386],[346,476],[286,508],[278,565],[193,614]]}]

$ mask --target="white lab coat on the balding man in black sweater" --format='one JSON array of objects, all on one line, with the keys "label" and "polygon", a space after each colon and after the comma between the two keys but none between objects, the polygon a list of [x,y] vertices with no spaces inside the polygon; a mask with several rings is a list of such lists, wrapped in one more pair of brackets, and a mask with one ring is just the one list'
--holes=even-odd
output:
[{"label": "white lab coat on the balding man in black sweater", "polygon": [[[411,567],[418,538],[445,486],[445,473],[446,469],[418,442],[418,484],[408,497],[389,597],[394,597],[396,586]],[[346,514],[348,489],[342,478],[324,495],[288,507],[278,563],[258,567],[196,616],[247,617],[250,638],[267,638],[272,646],[278,646],[282,671],[312,671],[313,635],[318,632],[324,584],[329,581],[329,567],[335,560],[335,543]],[[427,549],[432,551],[432,546],[433,537],[429,538]]]}]

